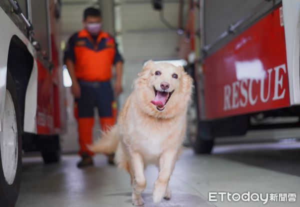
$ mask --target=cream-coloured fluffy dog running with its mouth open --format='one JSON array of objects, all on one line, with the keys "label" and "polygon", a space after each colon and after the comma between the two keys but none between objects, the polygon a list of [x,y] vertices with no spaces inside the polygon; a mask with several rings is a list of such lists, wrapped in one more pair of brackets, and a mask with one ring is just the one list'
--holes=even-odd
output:
[{"label": "cream-coloured fluffy dog running with its mouth open", "polygon": [[115,152],[115,163],[130,174],[133,205],[144,203],[141,192],[148,164],[159,168],[153,202],[171,198],[168,181],[185,136],[191,92],[192,78],[183,67],[149,60],[138,73],[116,125],[89,146],[94,152]]}]

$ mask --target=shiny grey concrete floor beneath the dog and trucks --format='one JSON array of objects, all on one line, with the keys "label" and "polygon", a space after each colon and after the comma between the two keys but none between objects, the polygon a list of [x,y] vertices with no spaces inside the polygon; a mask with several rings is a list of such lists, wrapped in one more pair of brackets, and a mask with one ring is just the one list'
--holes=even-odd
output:
[{"label": "shiny grey concrete floor beneath the dog and trucks", "polygon": [[[212,155],[185,149],[170,180],[172,199],[159,206],[300,206],[296,202],[208,202],[208,192],[294,192],[300,196],[300,144],[222,145]],[[129,176],[95,156],[95,166],[77,169],[77,155],[64,155],[58,164],[24,157],[22,183],[16,206],[132,206]],[[154,206],[151,191],[155,167],[145,171],[145,207]]]}]

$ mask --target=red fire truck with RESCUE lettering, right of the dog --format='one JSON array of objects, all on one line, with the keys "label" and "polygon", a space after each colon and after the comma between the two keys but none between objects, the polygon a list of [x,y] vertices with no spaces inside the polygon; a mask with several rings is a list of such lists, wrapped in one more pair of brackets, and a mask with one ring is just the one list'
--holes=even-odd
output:
[{"label": "red fire truck with RESCUE lettering, right of the dog", "polygon": [[215,137],[300,127],[300,0],[191,2],[200,28],[200,41],[185,29],[200,51],[195,152],[210,153]]}]

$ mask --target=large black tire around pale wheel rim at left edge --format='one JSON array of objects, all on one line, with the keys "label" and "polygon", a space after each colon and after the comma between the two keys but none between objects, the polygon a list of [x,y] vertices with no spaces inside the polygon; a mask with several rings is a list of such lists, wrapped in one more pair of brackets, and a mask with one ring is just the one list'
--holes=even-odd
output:
[{"label": "large black tire around pale wheel rim at left edge", "polygon": [[[20,113],[18,108],[17,96],[16,96],[16,88],[14,81],[7,71],[6,75],[6,89],[9,91],[11,95],[11,99],[13,102],[15,116],[16,116],[16,128],[17,128],[17,162],[16,162],[16,172],[14,180],[11,184],[8,184],[4,177],[3,167],[2,167],[2,159],[0,153],[0,206],[14,206],[17,200],[17,196],[19,193],[20,181],[21,181],[21,120]],[[5,129],[4,129],[5,130]],[[1,149],[0,149],[1,150]]]}]

